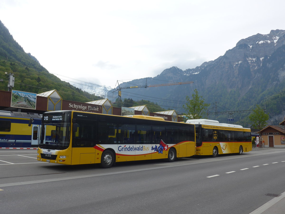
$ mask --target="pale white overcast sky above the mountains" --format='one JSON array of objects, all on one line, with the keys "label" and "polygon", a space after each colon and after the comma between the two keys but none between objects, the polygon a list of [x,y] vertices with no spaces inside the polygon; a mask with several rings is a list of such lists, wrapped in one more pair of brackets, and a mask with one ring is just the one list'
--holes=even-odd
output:
[{"label": "pale white overcast sky above the mountains", "polygon": [[284,30],[284,8],[284,0],[0,0],[0,20],[62,80],[115,87],[195,68],[241,39]]}]

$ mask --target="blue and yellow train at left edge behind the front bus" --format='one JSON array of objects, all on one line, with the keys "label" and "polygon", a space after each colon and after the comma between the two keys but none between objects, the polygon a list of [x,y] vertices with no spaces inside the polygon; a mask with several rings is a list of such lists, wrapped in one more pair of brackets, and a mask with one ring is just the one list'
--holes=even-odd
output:
[{"label": "blue and yellow train at left edge behind the front bus", "polygon": [[42,115],[37,113],[0,111],[0,148],[37,147],[41,120]]}]

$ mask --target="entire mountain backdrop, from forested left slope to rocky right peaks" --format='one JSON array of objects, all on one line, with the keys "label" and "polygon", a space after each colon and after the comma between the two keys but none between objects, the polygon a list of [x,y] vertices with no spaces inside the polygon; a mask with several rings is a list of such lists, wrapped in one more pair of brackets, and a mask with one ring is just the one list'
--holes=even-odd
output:
[{"label": "entire mountain backdrop, from forested left slope to rocky right peaks", "polygon": [[[38,94],[56,89],[63,99],[78,102],[107,97],[115,103],[118,98],[117,91],[114,92],[118,88],[86,82],[71,85],[49,73],[36,57],[24,52],[0,21],[0,90],[7,90],[7,73],[10,72],[15,76],[13,90]],[[190,81],[193,83],[177,84]],[[130,88],[146,83],[148,86],[173,84]],[[191,98],[197,89],[199,96],[211,104],[209,119],[227,122],[227,118],[234,118],[234,123],[247,123],[248,111],[258,104],[266,109],[270,121],[281,122],[285,112],[285,31],[258,33],[241,39],[223,56],[196,68],[182,70],[173,66],[155,77],[132,80],[120,87],[129,87],[121,90],[122,100],[149,100],[166,110],[174,109],[178,114],[185,112],[182,106],[186,96]]]}]

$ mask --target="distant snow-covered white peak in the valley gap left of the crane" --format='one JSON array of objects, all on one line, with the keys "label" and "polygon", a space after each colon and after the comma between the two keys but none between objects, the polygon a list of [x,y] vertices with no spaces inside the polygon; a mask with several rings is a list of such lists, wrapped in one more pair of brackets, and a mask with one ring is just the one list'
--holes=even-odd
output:
[{"label": "distant snow-covered white peak in the valley gap left of the crane", "polygon": [[95,94],[96,96],[101,96],[103,98],[107,98],[107,93],[111,90],[111,86],[101,86],[97,84],[80,82],[73,84],[74,87],[81,89],[87,93]]}]

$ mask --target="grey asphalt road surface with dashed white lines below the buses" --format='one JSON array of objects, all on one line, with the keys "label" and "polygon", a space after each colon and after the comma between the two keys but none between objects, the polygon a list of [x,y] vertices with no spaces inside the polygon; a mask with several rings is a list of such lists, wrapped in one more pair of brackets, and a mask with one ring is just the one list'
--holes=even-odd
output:
[{"label": "grey asphalt road surface with dashed white lines below the buses", "polygon": [[1,213],[251,213],[285,191],[285,149],[66,166],[0,149]]}]

